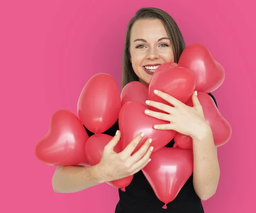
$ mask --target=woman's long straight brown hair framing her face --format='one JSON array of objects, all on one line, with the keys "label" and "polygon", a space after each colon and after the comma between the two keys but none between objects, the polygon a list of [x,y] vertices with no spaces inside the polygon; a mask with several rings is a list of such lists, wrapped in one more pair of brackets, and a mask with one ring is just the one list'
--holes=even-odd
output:
[{"label": "woman's long straight brown hair framing her face", "polygon": [[180,54],[186,47],[183,36],[180,32],[180,29],[177,26],[177,23],[168,13],[158,8],[139,9],[136,12],[135,16],[129,21],[126,30],[125,48],[122,59],[122,88],[124,88],[124,86],[131,81],[139,81],[139,78],[135,74],[130,62],[130,35],[131,27],[137,20],[140,19],[159,19],[160,21],[162,21],[163,26],[166,29],[167,35],[171,40],[174,51],[174,60],[176,63],[180,58]]}]

